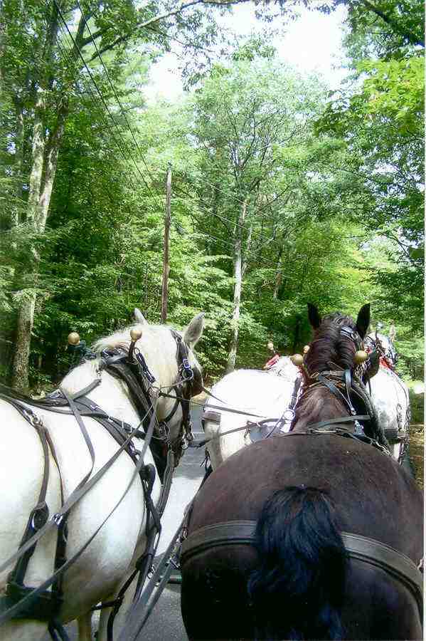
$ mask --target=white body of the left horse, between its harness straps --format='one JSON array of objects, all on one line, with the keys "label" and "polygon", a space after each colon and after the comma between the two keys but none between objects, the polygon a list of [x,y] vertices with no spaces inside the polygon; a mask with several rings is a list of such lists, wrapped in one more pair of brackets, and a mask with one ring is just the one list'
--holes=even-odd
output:
[{"label": "white body of the left horse, between its harness straps", "polygon": [[[59,417],[54,412],[39,409],[36,410],[36,414],[48,429],[58,456],[66,500],[90,471],[91,459],[87,444],[73,416]],[[41,442],[36,430],[11,405],[2,401],[0,422],[8,424],[8,421],[14,425],[14,439],[11,439],[7,429],[0,431],[0,482],[3,488],[9,488],[9,491],[4,493],[7,500],[2,500],[0,506],[0,523],[4,526],[7,524],[0,532],[2,559],[9,558],[16,551],[28,515],[37,504],[44,467]],[[117,452],[119,445],[95,419],[86,417],[84,424],[95,450],[95,466],[92,472],[95,474]],[[143,442],[135,439],[135,444],[137,442],[139,449],[142,449]],[[19,444],[19,449],[16,449],[16,443]],[[16,452],[16,456],[12,452]],[[31,457],[23,459],[21,452],[31,452]],[[151,452],[147,452],[145,462],[154,464]],[[87,610],[87,604],[99,603],[107,598],[117,588],[129,568],[145,516],[144,494],[139,476],[134,479],[131,488],[122,499],[134,469],[129,455],[122,452],[112,467],[70,511],[66,546],[68,558],[80,550],[107,514],[119,504],[92,543],[64,575],[64,602],[60,610],[60,618],[63,621],[77,618]],[[154,503],[158,501],[159,493],[160,483],[157,476],[152,493]],[[46,503],[51,518],[61,507],[58,469],[51,454]],[[57,530],[51,528],[37,543],[28,564],[25,585],[36,587],[53,574],[56,538]],[[141,543],[143,545],[143,541]],[[1,576],[2,590],[10,570],[11,568],[7,568]],[[16,636],[19,625],[21,624],[16,622],[6,624],[1,628],[1,638],[8,638],[8,628],[13,632],[10,638],[21,638]]]}]

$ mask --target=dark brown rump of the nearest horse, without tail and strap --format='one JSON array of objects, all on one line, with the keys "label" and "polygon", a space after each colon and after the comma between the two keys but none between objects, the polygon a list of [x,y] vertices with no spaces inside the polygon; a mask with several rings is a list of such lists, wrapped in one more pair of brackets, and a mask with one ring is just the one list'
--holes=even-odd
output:
[{"label": "dark brown rump of the nearest horse, without tail and strap", "polygon": [[[415,481],[380,450],[332,434],[284,434],[234,454],[198,492],[188,536],[206,526],[223,532],[220,523],[253,523],[277,490],[302,485],[329,496],[341,531],[376,539],[419,563],[423,503]],[[191,641],[283,638],[270,632],[265,636],[257,628],[247,581],[261,558],[252,540],[242,540],[238,523],[231,524],[230,530],[234,525],[239,533],[233,542],[223,536],[219,544],[211,540],[181,559],[181,608]],[[343,638],[421,637],[411,591],[382,568],[352,558],[343,590]],[[272,595],[265,599],[270,610],[263,613],[265,620],[285,616],[285,602],[279,599],[279,595],[275,601]]]}]

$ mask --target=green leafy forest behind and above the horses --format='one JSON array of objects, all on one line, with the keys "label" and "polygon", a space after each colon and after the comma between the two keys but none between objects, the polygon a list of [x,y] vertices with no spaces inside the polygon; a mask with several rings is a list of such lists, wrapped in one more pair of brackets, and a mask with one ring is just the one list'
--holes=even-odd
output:
[{"label": "green leafy forest behind and above the horses", "polygon": [[[220,22],[250,4],[262,24]],[[346,80],[283,65],[271,32],[346,8]],[[285,37],[285,36],[284,36]],[[186,95],[147,100],[179,48]],[[417,0],[0,2],[0,379],[53,389],[87,344],[206,313],[212,382],[309,340],[306,303],[397,329],[422,378],[423,7]]]}]

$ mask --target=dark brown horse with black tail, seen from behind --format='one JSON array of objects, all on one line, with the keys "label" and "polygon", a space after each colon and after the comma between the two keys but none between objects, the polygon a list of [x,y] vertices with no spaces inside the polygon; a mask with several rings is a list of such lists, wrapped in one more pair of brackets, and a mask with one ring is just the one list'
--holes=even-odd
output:
[{"label": "dark brown horse with black tail, seen from behind", "polygon": [[369,316],[309,306],[292,432],[233,454],[198,492],[181,555],[191,640],[422,638],[422,493],[354,375]]}]

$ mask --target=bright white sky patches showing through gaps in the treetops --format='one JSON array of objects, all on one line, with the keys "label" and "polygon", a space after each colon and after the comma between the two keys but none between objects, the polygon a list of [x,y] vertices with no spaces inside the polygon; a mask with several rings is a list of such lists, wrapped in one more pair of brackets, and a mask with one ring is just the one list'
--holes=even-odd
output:
[{"label": "bright white sky patches showing through gaps in the treetops", "polygon": [[[261,31],[263,24],[255,19],[254,5],[240,5],[234,9],[233,16],[223,19],[224,23],[240,35]],[[344,35],[344,7],[332,14],[324,15],[318,11],[301,8],[300,17],[289,22],[279,36],[272,40],[277,55],[301,73],[320,73],[331,89],[336,89],[344,78],[344,54],[341,40]],[[274,28],[282,28],[277,19]],[[161,96],[173,100],[182,93],[181,78],[177,68],[176,56],[166,54],[159,63],[151,68],[151,83],[144,89],[149,98]]]}]

